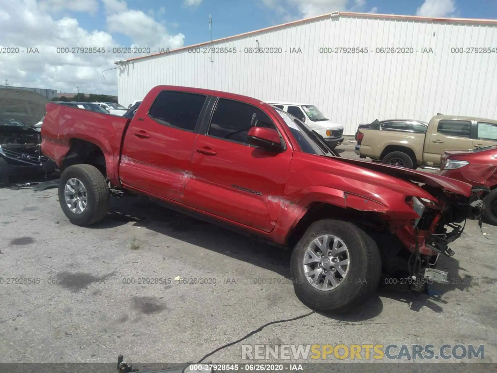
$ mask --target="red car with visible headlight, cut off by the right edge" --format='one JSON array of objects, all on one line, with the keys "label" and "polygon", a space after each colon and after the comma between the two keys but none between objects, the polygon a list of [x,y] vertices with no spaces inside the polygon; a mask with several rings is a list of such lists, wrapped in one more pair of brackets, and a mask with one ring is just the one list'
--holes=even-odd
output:
[{"label": "red car with visible headlight, cut off by the right edge", "polygon": [[485,196],[483,214],[490,223],[497,225],[497,145],[468,151],[445,151],[442,168],[437,174],[492,189]]}]

